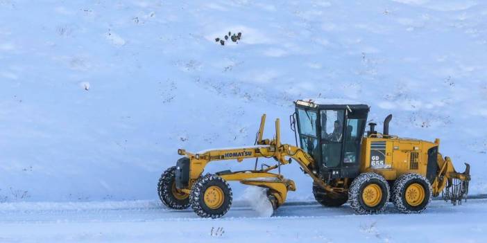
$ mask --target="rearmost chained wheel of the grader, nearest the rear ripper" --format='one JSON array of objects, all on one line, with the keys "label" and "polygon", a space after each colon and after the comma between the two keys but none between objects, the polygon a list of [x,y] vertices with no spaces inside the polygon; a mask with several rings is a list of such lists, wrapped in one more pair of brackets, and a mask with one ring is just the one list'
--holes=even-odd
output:
[{"label": "rearmost chained wheel of the grader, nearest the rear ripper", "polygon": [[401,213],[421,213],[432,201],[432,186],[420,174],[403,174],[393,186],[393,204]]}]

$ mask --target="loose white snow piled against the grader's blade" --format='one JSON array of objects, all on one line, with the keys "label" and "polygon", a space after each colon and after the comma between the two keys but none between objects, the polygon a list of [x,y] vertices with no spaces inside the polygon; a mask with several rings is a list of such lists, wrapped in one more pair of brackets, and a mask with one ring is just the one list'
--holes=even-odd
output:
[{"label": "loose white snow piled against the grader's blade", "polygon": [[271,201],[267,198],[267,190],[258,186],[248,186],[243,190],[241,197],[260,217],[271,217],[274,213]]}]

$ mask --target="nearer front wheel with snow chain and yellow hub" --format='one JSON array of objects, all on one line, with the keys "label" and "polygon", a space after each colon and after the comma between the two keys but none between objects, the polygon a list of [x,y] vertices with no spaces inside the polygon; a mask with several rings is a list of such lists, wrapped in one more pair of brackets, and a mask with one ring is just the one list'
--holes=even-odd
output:
[{"label": "nearer front wheel with snow chain and yellow hub", "polygon": [[207,174],[194,183],[189,201],[200,217],[222,217],[232,206],[232,189],[221,177]]}]

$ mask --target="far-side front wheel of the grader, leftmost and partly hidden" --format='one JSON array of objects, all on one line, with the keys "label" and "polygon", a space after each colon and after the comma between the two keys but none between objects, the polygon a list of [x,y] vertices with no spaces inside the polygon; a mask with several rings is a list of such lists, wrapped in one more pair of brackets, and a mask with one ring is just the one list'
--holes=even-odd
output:
[{"label": "far-side front wheel of the grader, leftmost and partly hidden", "polygon": [[164,171],[157,183],[157,194],[162,204],[173,209],[189,207],[189,194],[176,188],[176,166]]}]

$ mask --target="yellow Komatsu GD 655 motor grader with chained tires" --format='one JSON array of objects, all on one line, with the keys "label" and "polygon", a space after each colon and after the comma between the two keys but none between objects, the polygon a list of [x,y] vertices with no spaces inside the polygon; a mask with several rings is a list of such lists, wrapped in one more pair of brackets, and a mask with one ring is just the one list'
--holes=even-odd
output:
[{"label": "yellow Komatsu GD 655 motor grader with chained tires", "polygon": [[[162,173],[157,192],[164,205],[173,209],[191,206],[200,217],[222,217],[232,204],[227,181],[266,188],[273,208],[284,204],[289,190],[280,166],[296,161],[313,181],[316,201],[336,207],[349,201],[358,214],[380,213],[392,201],[402,213],[420,213],[432,197],[443,192],[445,200],[461,203],[468,194],[470,165],[456,172],[449,157],[439,153],[440,141],[421,141],[389,134],[392,116],[384,120],[382,133],[369,123],[368,105],[332,102],[325,99],[297,100],[289,117],[296,145],[281,143],[280,120],[275,120],[275,136],[264,139],[266,115],[261,119],[253,146],[204,150],[190,153]],[[203,174],[212,161],[255,161],[253,169]],[[259,159],[273,159],[275,165]],[[271,172],[277,170],[276,172]]]}]

